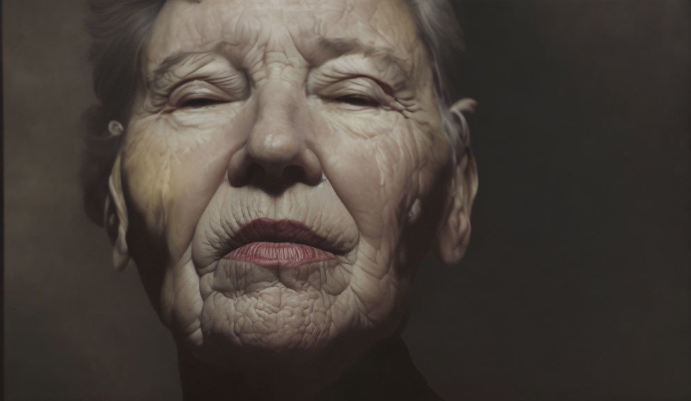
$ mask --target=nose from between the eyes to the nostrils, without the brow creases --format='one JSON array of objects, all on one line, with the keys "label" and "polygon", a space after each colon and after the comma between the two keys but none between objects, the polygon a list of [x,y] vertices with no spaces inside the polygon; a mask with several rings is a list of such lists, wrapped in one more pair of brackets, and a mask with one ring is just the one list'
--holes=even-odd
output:
[{"label": "nose from between the eyes to the nostrils, without the brow creases", "polygon": [[321,164],[308,146],[310,119],[306,98],[297,95],[300,92],[266,87],[258,93],[254,125],[228,164],[233,187],[254,182],[278,189],[321,181]]}]

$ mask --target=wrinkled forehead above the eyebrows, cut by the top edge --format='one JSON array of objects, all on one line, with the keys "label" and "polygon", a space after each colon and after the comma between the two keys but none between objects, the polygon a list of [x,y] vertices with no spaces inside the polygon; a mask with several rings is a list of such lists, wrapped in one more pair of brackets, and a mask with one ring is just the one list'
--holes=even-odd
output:
[{"label": "wrinkled forehead above the eyebrows, cut by the top edge", "polygon": [[153,68],[180,52],[265,47],[310,61],[324,51],[324,40],[385,49],[411,70],[422,46],[401,0],[171,0],[155,20],[143,56]]}]

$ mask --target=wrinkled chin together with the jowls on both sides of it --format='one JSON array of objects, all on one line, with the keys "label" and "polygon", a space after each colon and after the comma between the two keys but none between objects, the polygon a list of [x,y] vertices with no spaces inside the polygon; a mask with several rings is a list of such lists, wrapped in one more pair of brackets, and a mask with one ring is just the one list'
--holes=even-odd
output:
[{"label": "wrinkled chin together with the jowls on both sides of it", "polygon": [[346,257],[293,267],[222,258],[201,275],[191,259],[170,270],[163,320],[181,351],[205,365],[336,372],[401,322],[399,286]]}]

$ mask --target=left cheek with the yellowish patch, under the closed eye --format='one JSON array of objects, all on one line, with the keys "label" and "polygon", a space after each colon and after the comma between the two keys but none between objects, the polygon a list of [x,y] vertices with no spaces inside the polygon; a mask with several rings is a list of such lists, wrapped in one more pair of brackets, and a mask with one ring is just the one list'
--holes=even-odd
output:
[{"label": "left cheek with the yellowish patch, under the closed eye", "polygon": [[244,142],[246,114],[210,109],[197,116],[151,116],[130,126],[132,140],[123,159],[128,206],[150,236],[165,238],[172,260],[183,255],[199,217],[226,179],[228,159]]}]

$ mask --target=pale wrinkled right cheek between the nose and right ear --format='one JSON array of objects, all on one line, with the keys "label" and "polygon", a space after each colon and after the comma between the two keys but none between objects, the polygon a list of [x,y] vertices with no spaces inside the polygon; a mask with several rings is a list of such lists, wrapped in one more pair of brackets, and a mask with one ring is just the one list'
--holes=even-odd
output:
[{"label": "pale wrinkled right cheek between the nose and right ear", "polygon": [[[326,114],[325,140],[316,148],[325,175],[364,237],[380,239],[400,228],[417,193],[424,141],[399,113]],[[337,150],[337,151],[334,151]],[[403,213],[402,213],[403,210]]]}]

